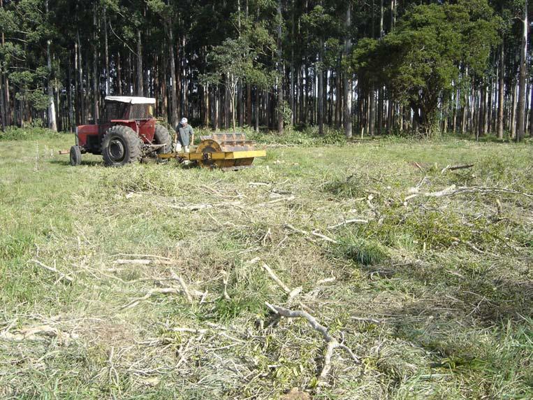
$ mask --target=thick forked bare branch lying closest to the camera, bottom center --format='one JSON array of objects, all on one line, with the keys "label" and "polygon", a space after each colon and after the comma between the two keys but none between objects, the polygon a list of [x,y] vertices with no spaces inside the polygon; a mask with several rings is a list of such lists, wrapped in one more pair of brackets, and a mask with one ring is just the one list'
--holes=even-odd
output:
[{"label": "thick forked bare branch lying closest to the camera, bottom center", "polygon": [[360,359],[353,354],[350,348],[348,348],[346,345],[339,343],[337,339],[335,339],[333,336],[330,335],[328,332],[328,328],[324,327],[323,325],[319,324],[319,322],[316,320],[315,317],[313,317],[311,314],[307,313],[306,311],[301,310],[289,310],[289,308],[284,308],[280,306],[275,306],[274,304],[270,304],[265,301],[265,305],[270,308],[271,310],[274,310],[277,314],[281,315],[282,317],[286,318],[305,318],[307,322],[309,322],[309,325],[315,330],[318,331],[321,335],[324,341],[326,341],[326,352],[324,354],[324,363],[322,366],[322,371],[319,375],[319,385],[323,385],[321,381],[323,381],[326,376],[328,376],[328,373],[331,369],[331,357],[333,356],[333,351],[336,348],[341,348],[342,350],[345,350],[353,359],[353,362],[356,362],[356,364],[360,364]]}]

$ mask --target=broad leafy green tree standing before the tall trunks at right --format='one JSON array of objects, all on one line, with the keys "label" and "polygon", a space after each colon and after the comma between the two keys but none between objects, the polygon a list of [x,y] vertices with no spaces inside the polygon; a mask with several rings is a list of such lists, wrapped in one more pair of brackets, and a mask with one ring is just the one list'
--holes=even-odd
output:
[{"label": "broad leafy green tree standing before the tall trunks at right", "polygon": [[413,6],[382,40],[360,41],[349,68],[363,85],[388,87],[428,134],[460,71],[484,72],[500,22],[486,0]]}]

